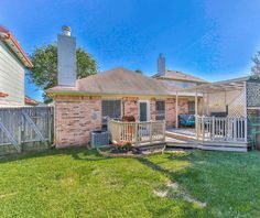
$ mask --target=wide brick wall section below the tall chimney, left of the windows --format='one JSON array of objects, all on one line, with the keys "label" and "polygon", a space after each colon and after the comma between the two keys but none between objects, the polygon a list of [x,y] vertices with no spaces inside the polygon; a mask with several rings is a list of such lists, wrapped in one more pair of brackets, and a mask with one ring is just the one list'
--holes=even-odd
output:
[{"label": "wide brick wall section below the tall chimney, left of the windows", "polygon": [[101,98],[58,96],[55,98],[57,148],[89,142],[90,131],[101,128]]}]

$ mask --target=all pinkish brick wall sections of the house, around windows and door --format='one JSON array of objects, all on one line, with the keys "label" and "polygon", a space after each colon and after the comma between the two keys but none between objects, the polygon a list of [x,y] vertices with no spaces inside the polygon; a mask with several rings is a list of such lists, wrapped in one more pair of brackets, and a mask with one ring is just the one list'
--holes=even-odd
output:
[{"label": "all pinkish brick wall sections of the house, around windows and door", "polygon": [[[124,116],[138,120],[138,97],[126,97]],[[155,98],[150,99],[151,120],[155,120]],[[188,112],[187,99],[178,100],[178,113]],[[175,124],[175,99],[165,100],[165,119],[169,128]],[[82,145],[90,140],[90,131],[101,129],[101,97],[55,97],[55,143],[57,148]]]}]

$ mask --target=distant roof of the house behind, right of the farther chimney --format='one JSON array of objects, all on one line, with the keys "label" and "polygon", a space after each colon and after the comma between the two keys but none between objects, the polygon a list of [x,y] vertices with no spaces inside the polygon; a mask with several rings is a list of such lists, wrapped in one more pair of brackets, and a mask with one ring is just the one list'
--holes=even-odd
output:
[{"label": "distant roof of the house behind, right of the farther chimney", "polygon": [[176,80],[182,80],[182,81],[197,81],[197,83],[208,83],[202,78],[184,74],[182,72],[176,72],[176,70],[166,70],[165,75],[158,75],[155,74],[153,76],[154,78],[165,78],[165,79],[176,79]]}]

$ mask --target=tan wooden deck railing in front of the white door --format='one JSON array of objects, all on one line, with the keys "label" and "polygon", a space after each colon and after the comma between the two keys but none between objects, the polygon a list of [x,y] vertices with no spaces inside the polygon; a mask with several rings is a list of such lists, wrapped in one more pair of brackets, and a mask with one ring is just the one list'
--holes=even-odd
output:
[{"label": "tan wooden deck railing in front of the white door", "polygon": [[122,122],[108,120],[112,143],[130,142],[133,145],[165,142],[165,121]]}]

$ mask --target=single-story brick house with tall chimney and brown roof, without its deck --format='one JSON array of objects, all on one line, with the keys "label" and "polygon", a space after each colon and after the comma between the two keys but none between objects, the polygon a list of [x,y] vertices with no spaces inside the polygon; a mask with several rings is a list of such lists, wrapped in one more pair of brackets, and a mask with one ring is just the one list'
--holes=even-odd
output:
[{"label": "single-story brick house with tall chimney and brown roof, without its deck", "polygon": [[188,98],[181,87],[118,67],[76,79],[76,39],[69,29],[58,34],[58,86],[47,90],[55,106],[57,146],[86,144],[90,131],[106,126],[106,118],[133,116],[139,121],[165,120],[169,128],[178,113],[188,113]]}]

